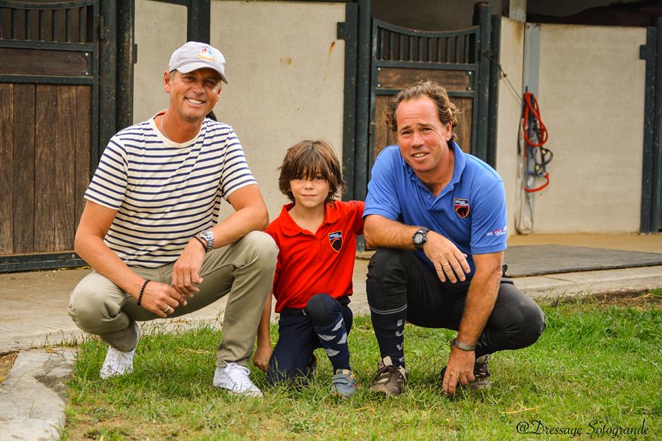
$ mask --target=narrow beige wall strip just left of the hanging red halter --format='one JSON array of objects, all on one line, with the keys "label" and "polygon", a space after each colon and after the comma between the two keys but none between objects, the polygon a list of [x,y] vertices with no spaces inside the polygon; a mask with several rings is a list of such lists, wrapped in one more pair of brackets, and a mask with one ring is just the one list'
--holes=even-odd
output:
[{"label": "narrow beige wall strip just left of the hanging red halter", "polygon": [[[508,75],[499,80],[499,110],[496,125],[496,171],[503,178],[505,201],[508,206],[508,236],[515,232],[515,201],[519,194],[517,176],[517,136],[521,103],[519,92],[522,84],[524,57],[524,23],[501,18],[501,44],[499,58],[501,68]],[[510,81],[510,85],[508,84]],[[511,87],[512,85],[512,87]],[[513,90],[514,88],[514,90]]]}]

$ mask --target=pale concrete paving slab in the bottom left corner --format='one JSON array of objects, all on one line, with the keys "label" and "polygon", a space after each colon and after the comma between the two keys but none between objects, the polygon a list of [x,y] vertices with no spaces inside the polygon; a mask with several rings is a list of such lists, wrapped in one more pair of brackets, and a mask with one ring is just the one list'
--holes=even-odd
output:
[{"label": "pale concrete paving slab in the bottom left corner", "polygon": [[75,350],[23,351],[0,385],[0,441],[59,440]]}]

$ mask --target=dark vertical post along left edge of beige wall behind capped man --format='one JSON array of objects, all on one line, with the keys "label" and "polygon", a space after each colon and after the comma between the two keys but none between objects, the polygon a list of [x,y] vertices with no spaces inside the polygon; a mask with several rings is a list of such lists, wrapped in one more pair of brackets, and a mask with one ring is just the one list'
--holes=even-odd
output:
[{"label": "dark vertical post along left edge of beige wall behind capped man", "polygon": [[117,14],[117,130],[133,124],[134,0],[118,0]]}]

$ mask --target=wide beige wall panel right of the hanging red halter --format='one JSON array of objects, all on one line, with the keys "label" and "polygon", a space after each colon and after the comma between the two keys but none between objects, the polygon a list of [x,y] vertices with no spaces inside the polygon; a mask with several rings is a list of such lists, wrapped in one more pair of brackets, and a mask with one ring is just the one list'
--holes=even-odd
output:
[{"label": "wide beige wall panel right of the hanging red halter", "polygon": [[534,232],[637,232],[645,29],[541,25],[539,104],[554,152]]}]

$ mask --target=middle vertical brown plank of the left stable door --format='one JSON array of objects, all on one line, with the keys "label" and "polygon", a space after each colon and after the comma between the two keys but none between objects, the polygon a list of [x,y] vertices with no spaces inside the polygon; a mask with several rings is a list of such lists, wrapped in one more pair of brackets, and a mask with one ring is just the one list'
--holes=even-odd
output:
[{"label": "middle vertical brown plank of the left stable door", "polygon": [[34,127],[34,251],[55,251],[55,166],[57,85],[37,85]]}]

